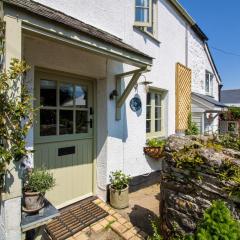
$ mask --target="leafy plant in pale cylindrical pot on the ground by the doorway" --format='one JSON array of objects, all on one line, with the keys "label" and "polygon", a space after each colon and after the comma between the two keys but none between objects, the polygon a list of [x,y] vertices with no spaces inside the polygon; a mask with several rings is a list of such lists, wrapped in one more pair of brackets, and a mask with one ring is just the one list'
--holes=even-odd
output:
[{"label": "leafy plant in pale cylindrical pot on the ground by the doorway", "polygon": [[129,181],[130,176],[127,176],[122,171],[112,172],[110,175],[110,204],[114,208],[122,209],[129,206]]}]

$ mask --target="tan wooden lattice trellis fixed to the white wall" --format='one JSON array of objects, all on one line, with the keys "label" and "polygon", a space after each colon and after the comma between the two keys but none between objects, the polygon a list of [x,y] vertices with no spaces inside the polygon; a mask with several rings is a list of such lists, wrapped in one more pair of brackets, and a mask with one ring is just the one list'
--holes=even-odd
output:
[{"label": "tan wooden lattice trellis fixed to the white wall", "polygon": [[176,64],[176,132],[188,128],[191,111],[192,71],[184,65]]}]

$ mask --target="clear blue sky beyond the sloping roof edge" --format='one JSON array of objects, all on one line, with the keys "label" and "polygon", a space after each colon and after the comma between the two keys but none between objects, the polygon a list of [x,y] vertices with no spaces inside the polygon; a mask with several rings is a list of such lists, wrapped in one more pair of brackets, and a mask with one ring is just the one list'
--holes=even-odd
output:
[{"label": "clear blue sky beyond the sloping roof edge", "polygon": [[240,89],[240,0],[179,2],[208,36],[223,89]]}]

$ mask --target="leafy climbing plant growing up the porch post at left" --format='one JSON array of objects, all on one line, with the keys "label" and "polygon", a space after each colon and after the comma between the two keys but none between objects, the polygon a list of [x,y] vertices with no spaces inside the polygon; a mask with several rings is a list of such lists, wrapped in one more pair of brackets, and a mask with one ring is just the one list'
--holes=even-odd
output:
[{"label": "leafy climbing plant growing up the porch post at left", "polygon": [[23,74],[29,69],[24,61],[12,59],[10,69],[0,73],[0,174],[3,175],[12,160],[27,156],[25,139],[32,126],[32,98],[21,84],[20,96],[11,93],[19,91],[16,82],[22,82]]}]

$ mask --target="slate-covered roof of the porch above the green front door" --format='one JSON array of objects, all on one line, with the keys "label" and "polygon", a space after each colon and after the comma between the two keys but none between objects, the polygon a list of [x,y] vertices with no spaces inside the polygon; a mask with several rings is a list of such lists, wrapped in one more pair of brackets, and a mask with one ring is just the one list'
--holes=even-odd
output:
[{"label": "slate-covered roof of the porch above the green front door", "polygon": [[93,38],[104,41],[105,43],[108,43],[115,47],[127,50],[129,52],[133,52],[150,60],[152,59],[152,57],[148,56],[147,54],[139,51],[138,49],[130,46],[129,44],[124,43],[120,38],[40,3],[33,2],[31,0],[3,0],[3,2],[8,5],[14,6],[17,9],[22,9],[27,12],[36,14],[40,17],[44,17],[54,22],[63,24],[67,27],[74,29],[75,31],[87,34]]}]

